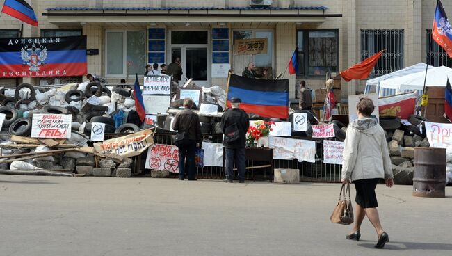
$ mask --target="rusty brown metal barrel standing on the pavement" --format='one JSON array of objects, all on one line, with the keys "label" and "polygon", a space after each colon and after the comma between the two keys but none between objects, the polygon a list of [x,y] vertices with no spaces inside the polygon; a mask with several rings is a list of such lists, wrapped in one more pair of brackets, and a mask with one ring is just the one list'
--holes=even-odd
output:
[{"label": "rusty brown metal barrel standing on the pavement", "polygon": [[414,147],[413,196],[446,196],[446,149]]}]

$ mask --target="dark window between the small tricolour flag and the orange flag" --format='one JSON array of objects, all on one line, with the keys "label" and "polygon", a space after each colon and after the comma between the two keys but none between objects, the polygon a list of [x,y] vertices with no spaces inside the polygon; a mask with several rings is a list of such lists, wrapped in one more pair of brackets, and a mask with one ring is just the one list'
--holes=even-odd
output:
[{"label": "dark window between the small tricolour flag and the orange flag", "polygon": [[338,71],[339,38],[337,30],[297,31],[298,74],[320,76]]}]

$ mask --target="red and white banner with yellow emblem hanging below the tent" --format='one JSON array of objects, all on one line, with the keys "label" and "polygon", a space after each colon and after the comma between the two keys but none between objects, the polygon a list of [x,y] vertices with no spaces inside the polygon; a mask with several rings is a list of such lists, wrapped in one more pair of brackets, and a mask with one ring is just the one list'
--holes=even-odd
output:
[{"label": "red and white banner with yellow emblem hanging below the tent", "polygon": [[417,91],[382,97],[378,99],[380,116],[392,115],[401,119],[408,119],[416,107]]}]

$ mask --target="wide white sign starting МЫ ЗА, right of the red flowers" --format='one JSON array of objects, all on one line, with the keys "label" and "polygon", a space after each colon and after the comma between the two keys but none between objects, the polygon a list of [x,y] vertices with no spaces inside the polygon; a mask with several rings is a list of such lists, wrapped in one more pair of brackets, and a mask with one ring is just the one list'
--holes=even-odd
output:
[{"label": "wide white sign starting \u041c\u042b \u0417\u0410, right of the red flowers", "polygon": [[270,136],[268,143],[269,147],[273,148],[273,159],[316,162],[315,141]]}]

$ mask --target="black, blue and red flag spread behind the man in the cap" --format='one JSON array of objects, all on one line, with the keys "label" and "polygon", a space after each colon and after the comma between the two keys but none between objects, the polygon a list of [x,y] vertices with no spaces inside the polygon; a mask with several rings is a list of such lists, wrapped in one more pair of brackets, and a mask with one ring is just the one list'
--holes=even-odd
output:
[{"label": "black, blue and red flag spread behind the man in the cap", "polygon": [[264,80],[231,74],[227,106],[233,97],[242,100],[240,108],[264,118],[289,117],[289,80]]}]

